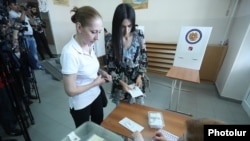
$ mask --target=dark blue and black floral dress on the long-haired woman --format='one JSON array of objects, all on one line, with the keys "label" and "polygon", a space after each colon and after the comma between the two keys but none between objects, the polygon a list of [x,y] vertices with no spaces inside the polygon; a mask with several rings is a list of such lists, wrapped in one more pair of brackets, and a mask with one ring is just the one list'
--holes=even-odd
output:
[{"label": "dark blue and black floral dress on the long-haired woman", "polygon": [[[113,46],[111,40],[112,39],[106,44],[107,69],[113,78],[110,98],[115,104],[119,104],[120,100],[134,103],[135,101],[131,102],[132,97],[126,93],[119,84],[119,80],[123,80],[129,85],[136,82],[138,75],[142,75],[142,86],[140,89],[145,93],[146,83],[143,76],[147,70],[148,60],[144,36],[139,30],[133,32],[133,39],[130,47],[123,48],[123,59],[120,64],[115,64],[112,55]],[[142,104],[140,102],[137,103]]]}]

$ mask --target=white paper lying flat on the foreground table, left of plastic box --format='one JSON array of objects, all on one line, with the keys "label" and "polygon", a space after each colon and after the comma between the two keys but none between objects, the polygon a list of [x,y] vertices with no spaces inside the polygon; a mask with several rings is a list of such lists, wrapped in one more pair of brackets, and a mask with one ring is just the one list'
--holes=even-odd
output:
[{"label": "white paper lying flat on the foreground table, left of plastic box", "polygon": [[119,123],[125,128],[127,128],[128,130],[130,130],[131,132],[135,132],[135,131],[141,132],[144,129],[143,126],[141,126],[140,124],[134,122],[133,120],[127,117],[124,117],[122,120],[119,121]]}]

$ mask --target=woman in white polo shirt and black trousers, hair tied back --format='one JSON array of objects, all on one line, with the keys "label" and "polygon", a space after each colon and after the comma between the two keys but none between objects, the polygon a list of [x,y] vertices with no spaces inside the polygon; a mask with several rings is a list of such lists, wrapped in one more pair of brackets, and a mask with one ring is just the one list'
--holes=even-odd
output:
[{"label": "woman in white polo shirt and black trousers, hair tied back", "polygon": [[[71,21],[76,34],[63,47],[60,62],[64,89],[69,96],[70,113],[78,127],[85,121],[101,124],[103,105],[99,85],[112,81],[110,75],[99,70],[94,42],[103,29],[101,15],[92,7],[74,7]],[[100,75],[98,75],[100,74]]]}]

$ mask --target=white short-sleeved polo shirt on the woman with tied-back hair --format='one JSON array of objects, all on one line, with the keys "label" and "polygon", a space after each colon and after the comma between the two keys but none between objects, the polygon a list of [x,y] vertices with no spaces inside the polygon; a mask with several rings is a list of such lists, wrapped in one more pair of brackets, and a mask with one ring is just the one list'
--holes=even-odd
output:
[{"label": "white short-sleeved polo shirt on the woman with tied-back hair", "polygon": [[[62,74],[77,74],[76,85],[86,85],[97,78],[100,64],[93,46],[91,54],[88,54],[82,50],[73,37],[62,49],[60,57],[61,72]],[[80,110],[91,104],[99,94],[100,88],[98,86],[93,87],[86,92],[69,97],[69,106],[74,110]]]}]

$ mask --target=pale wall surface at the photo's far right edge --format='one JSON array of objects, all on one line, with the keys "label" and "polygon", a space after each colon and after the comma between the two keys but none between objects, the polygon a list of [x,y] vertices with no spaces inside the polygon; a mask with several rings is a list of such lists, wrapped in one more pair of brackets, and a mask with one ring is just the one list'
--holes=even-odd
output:
[{"label": "pale wall surface at the photo's far right edge", "polygon": [[229,48],[216,80],[222,97],[242,101],[250,85],[250,1],[239,1],[229,33]]}]

